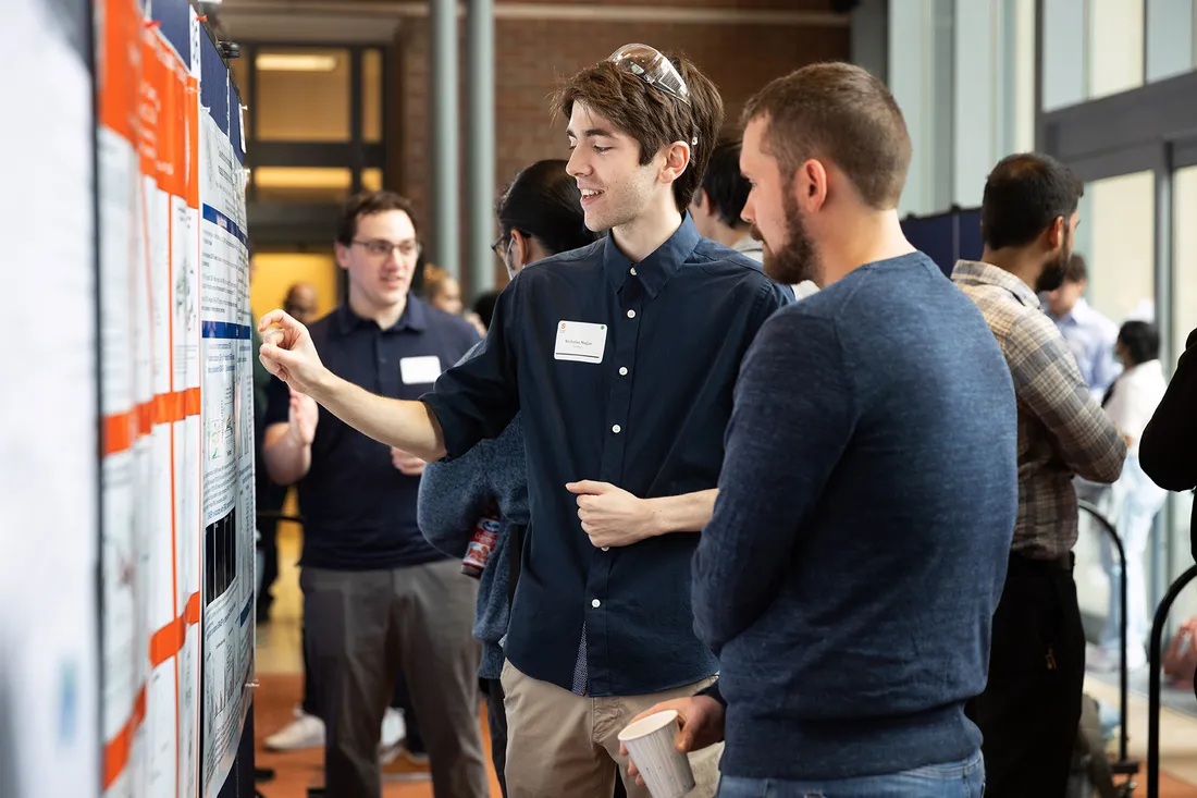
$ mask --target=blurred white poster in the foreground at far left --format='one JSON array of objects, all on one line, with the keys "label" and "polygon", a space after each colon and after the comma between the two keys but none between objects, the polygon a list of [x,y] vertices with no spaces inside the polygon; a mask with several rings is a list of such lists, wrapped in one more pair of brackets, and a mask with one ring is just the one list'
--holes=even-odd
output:
[{"label": "blurred white poster in the foreground at far left", "polygon": [[[86,0],[5,0],[0,796],[95,796],[99,539]],[[19,121],[18,121],[19,117]],[[54,164],[47,169],[47,164]],[[63,767],[68,763],[69,767]]]}]

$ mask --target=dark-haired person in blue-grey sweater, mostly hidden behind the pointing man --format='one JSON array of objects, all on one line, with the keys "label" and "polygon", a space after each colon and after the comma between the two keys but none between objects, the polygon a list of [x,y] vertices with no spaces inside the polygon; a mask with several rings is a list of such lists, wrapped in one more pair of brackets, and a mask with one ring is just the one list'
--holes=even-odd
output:
[{"label": "dark-haired person in blue-grey sweater, mostly hidden behind the pointing man", "polygon": [[[585,247],[596,238],[585,226],[582,193],[565,170],[565,163],[531,164],[516,176],[497,204],[496,216],[503,234],[493,249],[512,279],[534,261]],[[466,357],[472,355],[473,351]],[[498,437],[479,442],[455,460],[430,463],[420,479],[417,509],[420,531],[429,543],[454,557],[467,555],[479,521],[494,512],[492,507],[497,508],[499,522],[479,576],[474,636],[482,643],[478,679],[486,696],[494,774],[506,796],[508,724],[499,676],[500,641],[508,633],[508,546],[528,524],[528,472],[518,413]]]}]

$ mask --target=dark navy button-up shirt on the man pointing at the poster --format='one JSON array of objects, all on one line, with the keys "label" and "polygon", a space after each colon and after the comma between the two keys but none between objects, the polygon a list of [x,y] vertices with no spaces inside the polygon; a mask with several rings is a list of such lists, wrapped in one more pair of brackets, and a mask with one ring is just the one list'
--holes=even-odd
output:
[{"label": "dark navy button-up shirt on the man pointing at the poster", "polygon": [[[740,359],[792,301],[687,214],[634,267],[608,236],[522,271],[475,356],[423,397],[450,457],[523,411],[531,522],[504,646],[522,672],[578,691],[581,671],[589,695],[625,696],[718,670],[693,629],[698,534],[596,549],[565,484],[598,479],[642,497],[716,488]],[[591,346],[563,359],[577,353],[575,331]]]}]

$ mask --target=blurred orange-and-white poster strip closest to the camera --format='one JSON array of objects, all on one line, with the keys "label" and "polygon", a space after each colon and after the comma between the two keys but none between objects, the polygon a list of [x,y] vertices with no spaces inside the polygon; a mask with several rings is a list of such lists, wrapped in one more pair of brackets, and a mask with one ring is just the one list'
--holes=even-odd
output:
[{"label": "blurred orange-and-white poster strip closest to the camera", "polygon": [[[102,788],[145,794],[147,619],[145,489],[150,388],[140,149],[141,16],[134,0],[96,14],[97,205],[103,494],[101,539]],[[138,279],[140,278],[140,280]],[[139,344],[139,339],[142,341]]]}]

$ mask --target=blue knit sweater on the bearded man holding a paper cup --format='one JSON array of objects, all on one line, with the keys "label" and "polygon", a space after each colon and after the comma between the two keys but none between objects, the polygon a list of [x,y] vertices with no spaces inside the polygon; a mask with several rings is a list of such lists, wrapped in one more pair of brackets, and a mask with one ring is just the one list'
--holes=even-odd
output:
[{"label": "blue knit sweater on the bearded man holding a paper cup", "polygon": [[826,780],[972,755],[1017,510],[1014,385],[925,255],[862,266],[761,327],[694,621],[724,775]]}]

